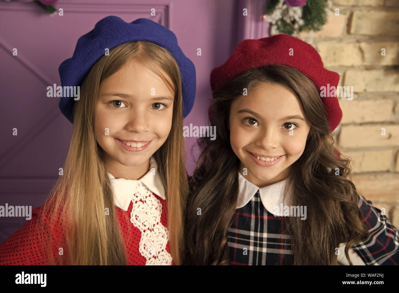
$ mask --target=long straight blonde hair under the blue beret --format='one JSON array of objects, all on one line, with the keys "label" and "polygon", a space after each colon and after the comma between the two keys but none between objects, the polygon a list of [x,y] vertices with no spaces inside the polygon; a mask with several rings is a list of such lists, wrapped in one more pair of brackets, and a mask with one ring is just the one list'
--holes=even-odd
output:
[{"label": "long straight blonde hair under the blue beret", "polygon": [[[170,52],[146,41],[128,42],[111,49],[109,56],[101,57],[83,81],[81,98],[75,102],[73,110],[73,134],[64,174],[51,189],[40,221],[44,229],[63,224],[61,228],[65,238],[61,237],[57,244],[52,240],[48,243],[53,231],[47,230],[50,235],[43,245],[50,264],[127,264],[125,243],[115,216],[112,189],[105,169],[104,151],[95,139],[94,114],[101,82],[132,59],[157,74],[175,93],[172,128],[166,142],[154,153],[154,158],[166,192],[170,253],[174,264],[180,264],[184,245],[183,213],[188,194],[182,133],[182,82],[178,64]],[[109,215],[105,215],[105,208],[109,208]],[[125,220],[130,225],[127,217]],[[60,247],[68,252],[67,259],[57,256]]]}]

